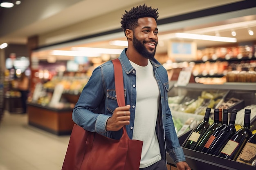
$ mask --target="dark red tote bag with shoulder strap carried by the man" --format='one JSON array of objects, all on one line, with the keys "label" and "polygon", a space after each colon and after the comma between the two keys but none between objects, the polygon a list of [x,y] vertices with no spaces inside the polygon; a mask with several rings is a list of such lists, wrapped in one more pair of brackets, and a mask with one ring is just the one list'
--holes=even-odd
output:
[{"label": "dark red tote bag with shoulder strap carried by the man", "polygon": [[[119,59],[112,60],[118,106],[125,106],[124,80]],[[143,141],[129,139],[125,126],[121,139],[111,139],[74,125],[62,170],[139,170]]]}]

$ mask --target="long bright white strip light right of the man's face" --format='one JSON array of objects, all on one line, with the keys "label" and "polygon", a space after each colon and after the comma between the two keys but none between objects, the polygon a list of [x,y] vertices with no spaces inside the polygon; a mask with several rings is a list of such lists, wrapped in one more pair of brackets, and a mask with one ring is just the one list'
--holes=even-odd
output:
[{"label": "long bright white strip light right of the man's face", "polygon": [[194,40],[209,40],[209,41],[220,41],[220,42],[236,42],[236,38],[219,37],[212,35],[201,35],[201,34],[190,34],[190,33],[175,33],[176,38],[188,38]]}]

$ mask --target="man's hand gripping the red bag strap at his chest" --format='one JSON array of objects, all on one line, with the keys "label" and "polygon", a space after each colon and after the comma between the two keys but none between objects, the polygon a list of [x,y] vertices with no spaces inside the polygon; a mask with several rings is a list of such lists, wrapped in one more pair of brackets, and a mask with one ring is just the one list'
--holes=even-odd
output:
[{"label": "man's hand gripping the red bag strap at his chest", "polygon": [[112,117],[107,121],[107,131],[117,131],[123,126],[130,124],[130,105],[118,107],[114,110]]}]

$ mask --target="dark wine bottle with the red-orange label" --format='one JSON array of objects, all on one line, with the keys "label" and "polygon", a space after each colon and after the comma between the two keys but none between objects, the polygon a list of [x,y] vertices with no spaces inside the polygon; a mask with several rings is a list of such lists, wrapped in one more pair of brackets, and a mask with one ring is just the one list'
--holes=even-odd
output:
[{"label": "dark wine bottle with the red-orange label", "polygon": [[[236,109],[236,110],[237,110],[237,109]],[[237,111],[236,111],[236,112],[237,112]],[[226,126],[228,126],[228,124],[227,124],[227,121],[228,121],[228,110],[227,110],[227,109],[223,109],[222,115],[223,115],[223,116],[222,116],[222,117],[223,117],[223,119],[222,119],[222,124],[221,124],[218,128],[216,128],[216,130],[213,132],[213,134],[209,137],[209,139],[208,139],[207,142],[205,143],[204,147],[202,148],[201,152],[206,153],[207,150],[209,149],[210,145],[212,144],[213,139],[215,139],[215,138],[219,135],[220,131],[221,131],[223,128],[225,128]]]}]

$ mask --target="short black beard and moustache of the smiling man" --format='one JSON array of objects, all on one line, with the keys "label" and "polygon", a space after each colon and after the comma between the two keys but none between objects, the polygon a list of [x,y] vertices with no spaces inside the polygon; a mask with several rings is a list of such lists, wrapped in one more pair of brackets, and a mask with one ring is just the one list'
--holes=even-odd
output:
[{"label": "short black beard and moustache of the smiling man", "polygon": [[132,40],[132,44],[135,47],[135,49],[138,51],[138,53],[140,55],[142,55],[143,57],[147,58],[147,59],[152,59],[155,57],[155,51],[156,51],[156,47],[157,47],[157,42],[155,40],[153,40],[153,42],[155,42],[155,49],[154,51],[149,51],[145,46],[144,46],[144,41],[141,43],[136,37],[135,35],[133,35],[133,40]]}]

